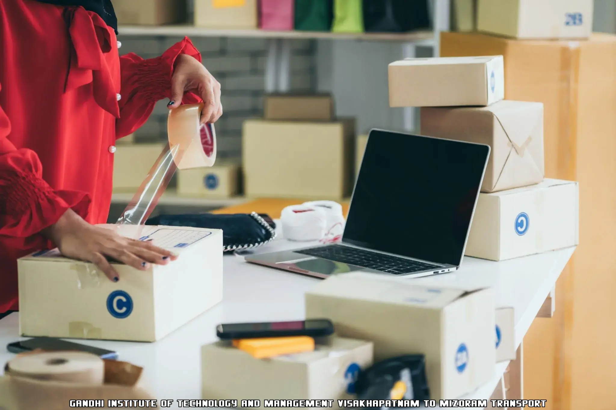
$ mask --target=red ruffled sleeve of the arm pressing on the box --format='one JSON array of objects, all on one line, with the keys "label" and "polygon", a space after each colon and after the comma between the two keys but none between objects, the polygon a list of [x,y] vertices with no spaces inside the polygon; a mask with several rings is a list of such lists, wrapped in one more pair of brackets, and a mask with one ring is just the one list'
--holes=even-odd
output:
[{"label": "red ruffled sleeve of the arm pressing on the box", "polygon": [[34,235],[56,223],[69,208],[85,218],[89,195],[54,191],[42,178],[36,153],[16,149],[9,133],[9,118],[0,107],[0,236]]}]

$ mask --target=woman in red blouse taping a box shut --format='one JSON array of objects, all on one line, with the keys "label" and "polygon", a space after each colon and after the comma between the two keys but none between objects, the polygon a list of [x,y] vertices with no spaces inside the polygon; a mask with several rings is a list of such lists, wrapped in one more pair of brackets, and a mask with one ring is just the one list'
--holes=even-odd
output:
[{"label": "woman in red blouse taping a box shut", "polygon": [[117,138],[144,124],[156,101],[203,100],[222,115],[220,84],[188,38],[161,57],[119,57],[110,0],[0,0],[0,317],[18,309],[17,259],[58,246],[96,264],[145,270],[176,256],[95,227],[111,202]]}]

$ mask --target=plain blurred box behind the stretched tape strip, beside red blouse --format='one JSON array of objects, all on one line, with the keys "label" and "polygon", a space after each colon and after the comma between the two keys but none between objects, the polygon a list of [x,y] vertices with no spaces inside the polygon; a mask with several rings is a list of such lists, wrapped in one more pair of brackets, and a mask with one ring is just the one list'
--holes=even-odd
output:
[{"label": "plain blurred box behind the stretched tape strip, beside red blouse", "polygon": [[164,144],[118,144],[113,154],[113,191],[135,191],[163,152]]}]

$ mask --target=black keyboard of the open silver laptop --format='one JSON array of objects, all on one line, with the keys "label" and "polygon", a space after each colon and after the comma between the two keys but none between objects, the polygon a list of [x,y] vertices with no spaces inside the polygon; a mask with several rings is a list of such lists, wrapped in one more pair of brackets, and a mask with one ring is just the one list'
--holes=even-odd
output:
[{"label": "black keyboard of the open silver laptop", "polygon": [[438,265],[412,261],[410,259],[398,258],[397,256],[389,256],[378,252],[355,249],[350,246],[342,245],[320,246],[318,248],[309,248],[294,252],[308,256],[316,256],[317,258],[328,259],[334,262],[342,262],[380,270],[381,272],[394,275],[411,274],[413,272],[421,272],[422,270],[442,268],[442,266]]}]

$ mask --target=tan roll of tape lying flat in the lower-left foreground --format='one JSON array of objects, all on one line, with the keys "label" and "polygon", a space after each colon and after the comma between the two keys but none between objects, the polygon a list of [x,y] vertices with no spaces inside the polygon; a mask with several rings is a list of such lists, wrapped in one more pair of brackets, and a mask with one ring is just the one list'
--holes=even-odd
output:
[{"label": "tan roll of tape lying flat in the lower-left foreground", "polygon": [[7,372],[27,379],[102,385],[105,363],[86,352],[28,353],[9,361]]}]

